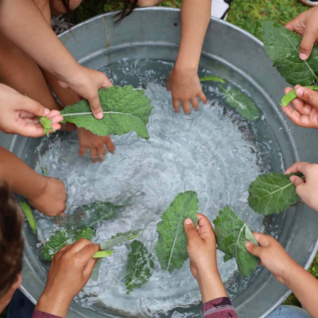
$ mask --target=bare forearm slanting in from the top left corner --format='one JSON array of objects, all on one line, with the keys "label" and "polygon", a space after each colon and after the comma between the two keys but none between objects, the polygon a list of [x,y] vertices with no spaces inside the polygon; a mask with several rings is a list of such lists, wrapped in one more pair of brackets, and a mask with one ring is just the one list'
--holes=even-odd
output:
[{"label": "bare forearm slanting in from the top left corner", "polygon": [[78,63],[56,36],[33,0],[2,0],[0,31],[39,66],[59,78]]}]

